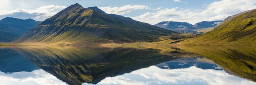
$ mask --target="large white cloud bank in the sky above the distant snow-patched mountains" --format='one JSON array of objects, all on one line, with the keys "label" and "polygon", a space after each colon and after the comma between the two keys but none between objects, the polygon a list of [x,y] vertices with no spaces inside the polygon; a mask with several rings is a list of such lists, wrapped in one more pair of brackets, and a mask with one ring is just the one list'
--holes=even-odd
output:
[{"label": "large white cloud bank in the sky above the distant snow-patched mountains", "polygon": [[255,3],[255,0],[221,0],[210,3],[203,9],[167,8],[131,18],[150,24],[157,24],[161,21],[185,21],[195,24],[200,21],[223,20],[227,16],[255,9]]}]

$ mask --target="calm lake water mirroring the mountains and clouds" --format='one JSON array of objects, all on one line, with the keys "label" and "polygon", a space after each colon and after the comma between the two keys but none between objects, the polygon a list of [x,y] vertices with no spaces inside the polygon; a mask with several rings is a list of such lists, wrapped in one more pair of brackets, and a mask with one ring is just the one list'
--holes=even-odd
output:
[{"label": "calm lake water mirroring the mountains and clouds", "polygon": [[256,46],[0,46],[1,85],[256,85]]}]

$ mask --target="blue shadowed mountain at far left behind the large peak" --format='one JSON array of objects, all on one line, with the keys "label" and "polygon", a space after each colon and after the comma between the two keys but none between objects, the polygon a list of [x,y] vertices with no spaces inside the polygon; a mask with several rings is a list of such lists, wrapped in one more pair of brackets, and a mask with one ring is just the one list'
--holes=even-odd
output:
[{"label": "blue shadowed mountain at far left behind the large peak", "polygon": [[0,42],[10,42],[15,40],[38,23],[39,21],[32,19],[22,20],[6,17],[0,20]]}]

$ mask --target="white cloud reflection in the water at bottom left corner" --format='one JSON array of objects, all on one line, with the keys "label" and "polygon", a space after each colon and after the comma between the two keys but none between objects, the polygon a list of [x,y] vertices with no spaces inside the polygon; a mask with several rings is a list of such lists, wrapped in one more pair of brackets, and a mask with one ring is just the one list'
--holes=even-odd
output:
[{"label": "white cloud reflection in the water at bottom left corner", "polygon": [[0,72],[1,85],[67,85],[44,70],[32,72],[16,72],[5,74]]}]

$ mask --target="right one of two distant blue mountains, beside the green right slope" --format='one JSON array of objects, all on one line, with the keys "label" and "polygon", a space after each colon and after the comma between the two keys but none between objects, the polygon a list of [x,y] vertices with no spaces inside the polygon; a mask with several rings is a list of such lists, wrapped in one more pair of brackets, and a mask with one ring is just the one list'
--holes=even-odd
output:
[{"label": "right one of two distant blue mountains, beside the green right slope", "polygon": [[196,23],[195,25],[193,25],[193,27],[196,29],[215,27],[215,26],[221,24],[221,22],[222,22],[221,20],[219,20],[219,21],[202,21],[200,23]]}]

